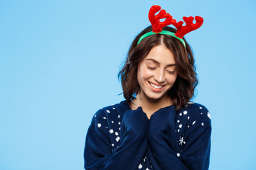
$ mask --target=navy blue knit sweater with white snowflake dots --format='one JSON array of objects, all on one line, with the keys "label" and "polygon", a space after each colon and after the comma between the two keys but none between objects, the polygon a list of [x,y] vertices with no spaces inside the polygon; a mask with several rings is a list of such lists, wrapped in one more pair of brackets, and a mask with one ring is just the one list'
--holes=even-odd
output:
[{"label": "navy blue knit sweater with white snowflake dots", "polygon": [[161,108],[150,120],[126,101],[100,109],[85,140],[87,170],[205,170],[210,157],[210,114],[188,102],[176,113]]}]

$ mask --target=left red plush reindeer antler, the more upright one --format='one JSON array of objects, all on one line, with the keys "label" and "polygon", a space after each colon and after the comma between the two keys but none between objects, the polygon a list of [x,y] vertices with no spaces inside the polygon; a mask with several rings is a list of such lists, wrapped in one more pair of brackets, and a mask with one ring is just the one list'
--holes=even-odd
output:
[{"label": "left red plush reindeer antler, the more upright one", "polygon": [[[161,9],[160,6],[151,6],[149,10],[149,21],[152,25],[152,29],[154,33],[160,33],[162,28],[165,26],[171,25],[172,23],[176,23],[175,19],[172,19],[172,16],[169,13],[166,13],[164,9],[162,9],[159,14],[155,15],[156,12],[158,12]],[[160,22],[160,19],[166,20],[164,22]],[[182,25],[182,24],[181,24]]]}]

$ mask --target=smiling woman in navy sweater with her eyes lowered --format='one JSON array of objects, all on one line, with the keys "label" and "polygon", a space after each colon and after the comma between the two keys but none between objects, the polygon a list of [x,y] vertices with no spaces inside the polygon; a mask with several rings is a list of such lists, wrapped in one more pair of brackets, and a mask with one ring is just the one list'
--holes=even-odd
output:
[{"label": "smiling woman in navy sweater with her eyes lowered", "polygon": [[[164,27],[176,33],[176,29]],[[186,40],[144,29],[119,72],[125,101],[95,113],[85,169],[208,169],[210,114],[189,102],[198,84]]]}]

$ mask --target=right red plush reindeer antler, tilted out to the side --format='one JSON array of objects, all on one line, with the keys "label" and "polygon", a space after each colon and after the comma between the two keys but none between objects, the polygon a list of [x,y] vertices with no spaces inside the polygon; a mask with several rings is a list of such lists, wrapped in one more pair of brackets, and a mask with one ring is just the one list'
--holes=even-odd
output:
[{"label": "right red plush reindeer antler, tilted out to the side", "polygon": [[203,18],[201,16],[196,16],[196,23],[193,24],[193,16],[190,17],[183,17],[183,21],[185,21],[186,26],[182,26],[183,21],[179,21],[178,23],[173,23],[173,25],[176,27],[177,32],[176,32],[176,36],[178,38],[183,38],[184,35],[186,35],[187,33],[191,32],[192,30],[196,30],[199,27],[202,26],[203,24]]}]

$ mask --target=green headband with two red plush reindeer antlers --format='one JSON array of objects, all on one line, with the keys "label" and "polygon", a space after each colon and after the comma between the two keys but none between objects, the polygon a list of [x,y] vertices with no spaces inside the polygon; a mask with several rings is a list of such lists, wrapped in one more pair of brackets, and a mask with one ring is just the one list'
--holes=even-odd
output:
[{"label": "green headband with two red plush reindeer antlers", "polygon": [[[175,19],[172,18],[172,16],[169,13],[166,13],[164,9],[162,9],[159,14],[155,15],[159,10],[161,9],[160,6],[151,6],[149,10],[149,21],[152,25],[152,32],[145,33],[142,35],[141,38],[139,38],[139,42],[141,42],[144,38],[148,37],[149,35],[154,35],[156,33],[164,34],[164,35],[171,35],[178,40],[181,40],[183,45],[186,47],[185,41],[182,39],[184,35],[191,32],[192,30],[196,30],[200,28],[203,24],[203,18],[201,16],[196,16],[196,23],[193,23],[193,16],[190,17],[183,17],[183,21],[185,21],[186,26],[182,26],[183,21],[176,22]],[[160,19],[165,19],[164,22],[161,22]],[[174,25],[177,29],[176,33],[172,33],[171,31],[162,30],[165,26]]]}]

